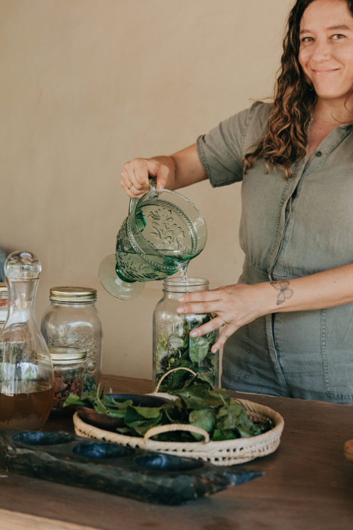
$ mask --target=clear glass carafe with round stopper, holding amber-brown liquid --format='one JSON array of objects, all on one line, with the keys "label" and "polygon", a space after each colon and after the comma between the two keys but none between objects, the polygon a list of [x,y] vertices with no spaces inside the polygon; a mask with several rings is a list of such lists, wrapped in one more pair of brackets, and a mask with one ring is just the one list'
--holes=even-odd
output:
[{"label": "clear glass carafe with round stopper, holding amber-brown liquid", "polygon": [[53,365],[34,314],[40,269],[29,252],[14,252],[5,262],[9,314],[0,333],[0,429],[40,429],[53,404]]}]

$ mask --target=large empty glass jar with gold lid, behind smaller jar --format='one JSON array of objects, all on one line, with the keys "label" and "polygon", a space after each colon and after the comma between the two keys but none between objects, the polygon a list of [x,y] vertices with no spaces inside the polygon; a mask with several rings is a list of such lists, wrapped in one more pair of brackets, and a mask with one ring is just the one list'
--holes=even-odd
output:
[{"label": "large empty glass jar with gold lid, behind smaller jar", "polygon": [[102,366],[102,321],[97,312],[97,290],[53,287],[41,331],[48,346],[66,346],[87,352],[84,392],[95,390]]}]

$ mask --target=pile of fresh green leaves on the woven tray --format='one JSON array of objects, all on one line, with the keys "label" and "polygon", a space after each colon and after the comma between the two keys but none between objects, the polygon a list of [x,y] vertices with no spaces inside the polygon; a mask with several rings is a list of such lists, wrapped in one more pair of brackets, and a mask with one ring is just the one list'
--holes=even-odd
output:
[{"label": "pile of fresh green leaves on the woven tray", "polygon": [[[173,403],[165,403],[161,407],[133,406],[130,400],[114,400],[103,393],[91,391],[89,395],[70,396],[64,406],[83,405],[107,414],[112,418],[124,418],[125,426],[117,428],[118,433],[143,437],[156,425],[181,423],[196,425],[209,433],[211,440],[235,440],[249,438],[265,433],[273,427],[271,420],[264,423],[253,423],[237,400],[227,395],[227,391],[219,388],[210,390],[203,384],[190,386],[182,391],[174,391],[178,396]],[[202,435],[186,431],[162,433],[154,440],[165,442],[191,442],[202,440]]]}]

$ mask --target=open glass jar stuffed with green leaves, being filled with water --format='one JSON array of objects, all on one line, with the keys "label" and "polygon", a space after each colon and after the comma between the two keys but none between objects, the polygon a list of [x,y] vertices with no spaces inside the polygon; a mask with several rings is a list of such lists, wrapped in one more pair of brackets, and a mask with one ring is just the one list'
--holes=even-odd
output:
[{"label": "open glass jar stuffed with green leaves, being filled with water", "polygon": [[[204,336],[190,337],[192,329],[212,319],[212,314],[178,314],[178,298],[185,292],[207,291],[208,280],[188,278],[166,278],[163,282],[163,298],[153,313],[153,384],[154,388],[164,373],[174,368],[188,368],[198,378],[218,388],[219,354],[212,354],[211,348],[217,341],[218,329]],[[178,370],[170,373],[159,388],[170,392],[186,388],[192,381],[192,373]]]}]

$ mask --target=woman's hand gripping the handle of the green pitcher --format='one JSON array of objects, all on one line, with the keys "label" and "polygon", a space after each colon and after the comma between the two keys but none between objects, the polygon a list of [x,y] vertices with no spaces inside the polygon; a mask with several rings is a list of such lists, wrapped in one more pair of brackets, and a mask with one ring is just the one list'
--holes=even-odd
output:
[{"label": "woman's hand gripping the handle of the green pitcher", "polygon": [[124,164],[120,184],[124,188],[127,196],[140,198],[150,191],[151,186],[148,181],[148,176],[153,176],[153,179],[156,180],[158,190],[165,188],[170,174],[170,165],[173,165],[174,162],[171,157],[161,158],[170,159],[170,161],[165,160],[167,162],[165,163],[158,159],[134,158]]}]

